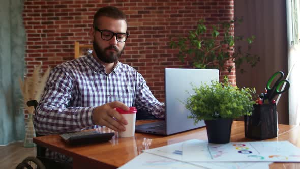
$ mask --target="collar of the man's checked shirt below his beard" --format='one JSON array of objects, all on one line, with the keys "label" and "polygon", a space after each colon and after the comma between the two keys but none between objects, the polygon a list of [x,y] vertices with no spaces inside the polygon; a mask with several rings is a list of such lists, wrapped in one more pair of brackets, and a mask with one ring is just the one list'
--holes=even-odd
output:
[{"label": "collar of the man's checked shirt below his beard", "polygon": [[[102,72],[103,74],[105,74],[105,66],[102,65],[101,63],[99,63],[94,57],[92,52],[87,52],[85,55],[85,62],[93,69],[93,71],[100,73]],[[119,71],[121,71],[120,69],[120,65],[122,63],[117,61],[116,65],[114,66],[112,73],[117,74],[119,73]]]}]

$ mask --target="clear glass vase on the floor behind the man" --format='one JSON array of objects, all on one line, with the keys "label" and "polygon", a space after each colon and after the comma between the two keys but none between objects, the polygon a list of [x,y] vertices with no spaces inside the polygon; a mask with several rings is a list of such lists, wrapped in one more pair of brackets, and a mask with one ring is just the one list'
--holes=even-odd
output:
[{"label": "clear glass vase on the floor behind the man", "polygon": [[27,123],[25,124],[25,139],[24,147],[35,147],[36,144],[33,143],[33,137],[36,137],[36,131],[33,123],[33,114],[28,114]]}]

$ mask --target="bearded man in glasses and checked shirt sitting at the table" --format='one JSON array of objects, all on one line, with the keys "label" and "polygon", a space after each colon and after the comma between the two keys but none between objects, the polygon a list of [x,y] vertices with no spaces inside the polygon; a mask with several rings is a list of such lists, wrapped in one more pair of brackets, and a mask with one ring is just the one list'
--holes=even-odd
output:
[{"label": "bearded man in glasses and checked shirt sitting at the table", "polygon": [[[106,126],[125,131],[127,121],[114,109],[135,106],[164,118],[164,105],[134,68],[118,61],[129,37],[125,14],[103,7],[90,31],[93,52],[56,66],[36,109],[38,134],[61,134]],[[51,158],[61,158],[47,151]]]}]

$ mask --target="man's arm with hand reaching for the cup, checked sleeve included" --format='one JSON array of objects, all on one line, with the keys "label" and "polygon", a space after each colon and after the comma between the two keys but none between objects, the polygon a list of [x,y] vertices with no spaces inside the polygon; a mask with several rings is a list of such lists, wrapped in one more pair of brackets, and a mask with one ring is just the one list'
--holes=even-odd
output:
[{"label": "man's arm with hand reaching for the cup, checked sleeve included", "polygon": [[35,129],[39,134],[59,134],[80,131],[92,125],[125,131],[127,121],[114,108],[129,108],[121,102],[97,107],[72,107],[73,82],[64,68],[54,68],[45,86],[35,114]]}]

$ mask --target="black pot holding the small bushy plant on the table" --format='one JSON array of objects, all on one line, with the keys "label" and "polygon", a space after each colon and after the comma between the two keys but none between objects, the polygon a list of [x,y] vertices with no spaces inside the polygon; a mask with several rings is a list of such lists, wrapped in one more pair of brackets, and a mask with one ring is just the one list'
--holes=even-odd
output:
[{"label": "black pot holding the small bushy plant on the table", "polygon": [[209,143],[223,144],[230,142],[232,119],[205,120]]}]

